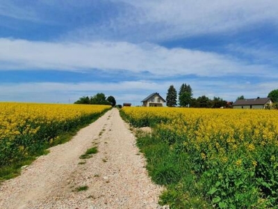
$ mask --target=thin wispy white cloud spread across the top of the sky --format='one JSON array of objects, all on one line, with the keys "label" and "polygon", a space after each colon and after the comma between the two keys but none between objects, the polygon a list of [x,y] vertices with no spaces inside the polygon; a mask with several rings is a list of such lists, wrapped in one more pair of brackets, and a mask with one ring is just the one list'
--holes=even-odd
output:
[{"label": "thin wispy white cloud spread across the top of the sky", "polygon": [[[272,24],[277,31],[278,2],[275,0],[106,0],[101,6],[110,6],[113,15],[99,18],[97,1],[3,1],[0,15],[17,20],[47,24],[67,24],[56,15],[60,12],[74,19],[91,19],[72,31],[60,34],[77,40],[122,40],[131,42],[161,41],[208,33],[234,33],[255,27],[256,24]],[[76,9],[85,13],[75,13]],[[88,12],[90,11],[90,13]],[[114,14],[115,13],[115,14]],[[88,16],[92,14],[92,17]],[[62,16],[63,16],[62,15]],[[4,24],[0,22],[0,24]]]}]

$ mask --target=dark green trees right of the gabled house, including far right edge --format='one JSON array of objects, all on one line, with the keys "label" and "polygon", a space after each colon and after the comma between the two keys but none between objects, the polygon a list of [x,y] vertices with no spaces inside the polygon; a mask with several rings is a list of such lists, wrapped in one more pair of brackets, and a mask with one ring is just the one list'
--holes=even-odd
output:
[{"label": "dark green trees right of the gabled house, including far right edge", "polygon": [[[270,91],[268,98],[271,98],[272,102],[278,102],[278,89]],[[236,100],[244,100],[244,96],[239,96]],[[180,107],[199,107],[199,108],[230,108],[233,102],[227,102],[220,97],[213,97],[213,100],[206,97],[206,95],[193,98],[193,91],[189,84],[181,84],[179,93],[177,93],[174,85],[170,85],[167,90],[166,105],[167,107],[176,107],[179,104]]]}]

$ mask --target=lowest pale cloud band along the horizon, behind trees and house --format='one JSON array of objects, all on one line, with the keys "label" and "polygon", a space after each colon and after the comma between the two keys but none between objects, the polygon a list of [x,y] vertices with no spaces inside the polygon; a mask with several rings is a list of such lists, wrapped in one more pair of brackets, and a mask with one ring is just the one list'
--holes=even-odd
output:
[{"label": "lowest pale cloud band along the horizon, behind trees and house", "polygon": [[[238,96],[245,98],[266,97],[270,91],[277,88],[276,82],[261,82],[259,84],[247,84],[246,82],[199,81],[188,79],[186,81],[193,88],[195,98],[206,95],[209,98],[220,97],[224,100],[234,101]],[[140,105],[141,100],[150,93],[158,92],[166,98],[167,89],[172,82],[149,82],[140,80],[137,82],[80,82],[80,83],[57,83],[57,82],[34,82],[34,83],[11,83],[0,84],[0,101],[21,102],[59,102],[68,103],[78,100],[84,95],[95,95],[105,93],[106,96],[113,95],[118,104],[131,102]],[[182,82],[174,82],[174,87],[179,91]]]}]

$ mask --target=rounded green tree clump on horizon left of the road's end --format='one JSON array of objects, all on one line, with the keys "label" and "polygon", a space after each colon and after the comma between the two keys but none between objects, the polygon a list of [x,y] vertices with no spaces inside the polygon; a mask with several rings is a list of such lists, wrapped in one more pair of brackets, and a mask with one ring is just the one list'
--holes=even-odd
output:
[{"label": "rounded green tree clump on horizon left of the road's end", "polygon": [[90,98],[88,96],[83,96],[74,102],[74,104],[107,104],[114,107],[116,105],[116,100],[113,96],[108,96],[108,98],[106,98],[104,93],[97,93]]}]

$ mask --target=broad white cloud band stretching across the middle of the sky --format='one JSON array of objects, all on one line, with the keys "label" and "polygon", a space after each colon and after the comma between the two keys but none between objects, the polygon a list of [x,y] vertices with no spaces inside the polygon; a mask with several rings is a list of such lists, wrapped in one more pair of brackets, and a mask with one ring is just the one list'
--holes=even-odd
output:
[{"label": "broad white cloud band stretching across the middle of the sky", "polygon": [[[129,42],[31,42],[0,38],[0,70],[129,70],[161,77],[254,75],[277,77],[267,65],[243,63],[229,56],[190,49],[167,49]],[[268,73],[269,72],[269,73]]]}]

